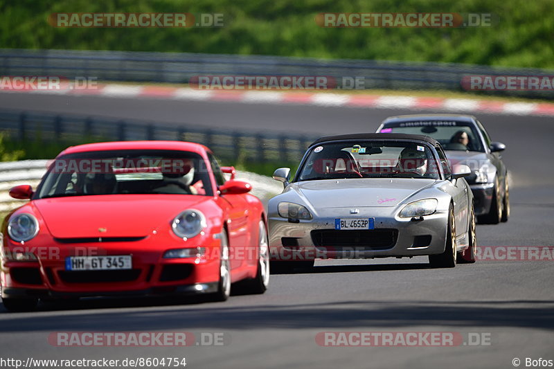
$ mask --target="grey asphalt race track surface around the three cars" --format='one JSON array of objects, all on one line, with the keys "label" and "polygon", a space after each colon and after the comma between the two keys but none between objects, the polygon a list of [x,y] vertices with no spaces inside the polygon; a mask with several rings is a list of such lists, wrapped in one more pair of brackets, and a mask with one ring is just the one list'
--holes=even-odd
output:
[{"label": "grey asphalt race track surface around the three cars", "polygon": [[[374,132],[402,109],[359,109],[0,93],[0,109],[196,123],[254,131]],[[480,246],[553,246],[552,118],[479,114],[506,143],[512,215],[477,227]],[[554,360],[554,262],[481,261],[429,269],[427,258],[318,261],[311,273],[271,276],[262,296],[226,303],[91,299],[0,314],[3,357],[186,357],[187,368],[513,368]],[[55,347],[53,332],[218,332],[224,345],[187,348]],[[323,347],[319,332],[455,332],[456,347]],[[205,335],[206,336],[206,335]],[[490,338],[472,345],[469,336]]]}]

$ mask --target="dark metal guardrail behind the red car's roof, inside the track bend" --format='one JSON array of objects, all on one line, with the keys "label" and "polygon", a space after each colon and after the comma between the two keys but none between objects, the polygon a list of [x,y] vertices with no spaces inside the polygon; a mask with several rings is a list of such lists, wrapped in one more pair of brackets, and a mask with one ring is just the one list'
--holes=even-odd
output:
[{"label": "dark metal guardrail behind the red car's roof, inside the track bend", "polygon": [[228,131],[141,120],[0,110],[0,131],[21,142],[177,140],[202,143],[225,161],[299,161],[316,136]]}]

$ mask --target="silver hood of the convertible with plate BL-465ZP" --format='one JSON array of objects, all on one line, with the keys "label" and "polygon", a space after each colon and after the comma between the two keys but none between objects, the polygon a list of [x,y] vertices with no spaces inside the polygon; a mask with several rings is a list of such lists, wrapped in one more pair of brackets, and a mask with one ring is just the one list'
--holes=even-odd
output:
[{"label": "silver hood of the convertible with plate BL-465ZP", "polygon": [[397,206],[404,199],[429,186],[434,179],[325,179],[295,182],[291,191],[314,208]]}]

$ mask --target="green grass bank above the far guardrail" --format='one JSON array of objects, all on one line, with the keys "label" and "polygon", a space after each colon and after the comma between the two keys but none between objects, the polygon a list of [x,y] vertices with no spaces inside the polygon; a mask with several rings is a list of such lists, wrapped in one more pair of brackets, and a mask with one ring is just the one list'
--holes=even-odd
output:
[{"label": "green grass bank above the far guardrail", "polygon": [[[217,12],[222,28],[53,28],[52,12]],[[491,27],[321,28],[319,12],[492,13]],[[0,47],[286,55],[554,68],[551,0],[0,0]]]}]

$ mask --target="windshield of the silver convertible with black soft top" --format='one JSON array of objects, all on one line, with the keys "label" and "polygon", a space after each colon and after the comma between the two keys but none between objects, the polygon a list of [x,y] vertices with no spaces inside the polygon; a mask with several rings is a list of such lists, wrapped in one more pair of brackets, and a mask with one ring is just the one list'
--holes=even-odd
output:
[{"label": "windshield of the silver convertible with black soft top", "polygon": [[356,141],[312,147],[297,181],[343,178],[439,179],[431,148],[403,141]]}]

